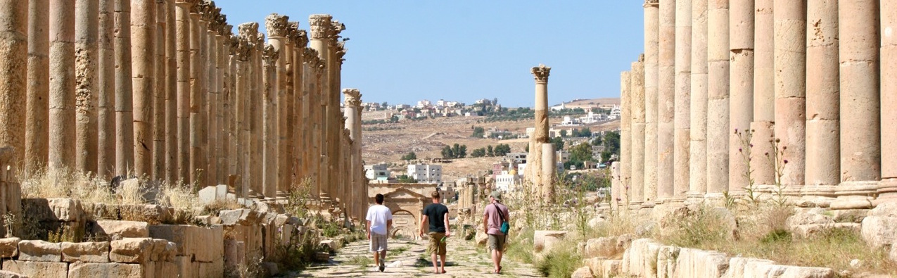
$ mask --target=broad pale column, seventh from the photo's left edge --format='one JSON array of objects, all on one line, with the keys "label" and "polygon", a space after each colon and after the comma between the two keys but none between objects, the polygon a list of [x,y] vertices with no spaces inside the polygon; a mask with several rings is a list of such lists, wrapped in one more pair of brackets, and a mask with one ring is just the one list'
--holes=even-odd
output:
[{"label": "broad pale column, seventh from the photo's left edge", "polygon": [[131,0],[136,14],[131,22],[131,56],[134,61],[134,171],[137,177],[152,175],[152,94],[155,91],[156,3]]}]

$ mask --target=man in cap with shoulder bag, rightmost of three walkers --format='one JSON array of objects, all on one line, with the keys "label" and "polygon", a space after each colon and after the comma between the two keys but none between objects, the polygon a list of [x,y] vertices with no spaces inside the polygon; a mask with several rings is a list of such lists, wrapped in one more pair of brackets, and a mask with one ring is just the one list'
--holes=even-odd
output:
[{"label": "man in cap with shoulder bag, rightmost of three walkers", "polygon": [[501,204],[501,191],[492,191],[489,204],[483,209],[483,230],[489,235],[487,246],[492,249],[492,265],[495,274],[501,274],[501,256],[504,255],[505,242],[510,228],[508,207]]}]

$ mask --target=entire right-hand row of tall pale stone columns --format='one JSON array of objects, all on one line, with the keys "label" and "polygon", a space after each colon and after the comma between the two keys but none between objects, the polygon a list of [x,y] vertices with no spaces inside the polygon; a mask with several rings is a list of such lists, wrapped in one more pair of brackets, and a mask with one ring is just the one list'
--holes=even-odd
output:
[{"label": "entire right-hand row of tall pale stone columns", "polygon": [[648,0],[617,204],[897,198],[897,1]]}]

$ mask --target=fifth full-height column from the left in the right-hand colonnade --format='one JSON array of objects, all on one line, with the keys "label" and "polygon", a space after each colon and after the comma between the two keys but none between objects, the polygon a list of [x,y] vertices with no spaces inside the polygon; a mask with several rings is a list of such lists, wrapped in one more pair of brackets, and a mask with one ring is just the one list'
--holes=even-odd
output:
[{"label": "fifth full-height column from the left in the right-hand colonnade", "polygon": [[729,6],[708,1],[707,9],[707,197],[728,190]]}]

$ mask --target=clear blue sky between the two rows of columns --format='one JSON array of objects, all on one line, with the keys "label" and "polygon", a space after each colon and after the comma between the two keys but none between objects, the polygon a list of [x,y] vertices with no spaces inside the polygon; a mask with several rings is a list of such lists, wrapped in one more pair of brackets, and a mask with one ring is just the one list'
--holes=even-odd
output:
[{"label": "clear blue sky between the two rows of columns", "polygon": [[[620,72],[643,48],[641,0],[345,1],[216,0],[228,22],[329,13],[350,38],[344,88],[362,101],[498,98],[532,107],[529,69],[552,67],[549,102],[619,97]],[[264,26],[264,24],[262,24]]]}]

